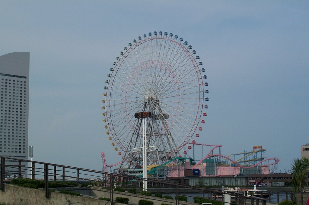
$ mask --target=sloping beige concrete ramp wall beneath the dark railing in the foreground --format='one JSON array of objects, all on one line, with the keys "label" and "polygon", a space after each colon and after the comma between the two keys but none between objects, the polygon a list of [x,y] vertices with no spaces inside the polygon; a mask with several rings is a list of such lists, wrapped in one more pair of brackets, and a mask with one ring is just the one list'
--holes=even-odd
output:
[{"label": "sloping beige concrete ramp wall beneath the dark railing in the foreground", "polygon": [[[84,205],[109,205],[109,201],[99,200],[99,197],[109,198],[109,190],[97,187],[76,187],[76,188],[61,188],[62,190],[71,190],[80,193],[83,196],[74,196],[61,194],[58,192],[49,192],[49,199],[45,197],[45,190],[31,189],[22,186],[15,186],[5,184],[4,191],[0,190],[0,203],[8,203],[14,205],[71,205],[71,204],[84,204]],[[60,190],[60,189],[58,189]],[[161,205],[162,203],[176,204],[175,200],[163,199],[153,196],[143,196],[139,194],[130,194],[128,192],[113,192],[113,201],[116,197],[129,198],[129,204],[138,204],[140,199],[153,201],[154,205]],[[114,203],[115,205],[123,205],[121,203]],[[179,201],[180,205],[196,205],[192,202]]]}]

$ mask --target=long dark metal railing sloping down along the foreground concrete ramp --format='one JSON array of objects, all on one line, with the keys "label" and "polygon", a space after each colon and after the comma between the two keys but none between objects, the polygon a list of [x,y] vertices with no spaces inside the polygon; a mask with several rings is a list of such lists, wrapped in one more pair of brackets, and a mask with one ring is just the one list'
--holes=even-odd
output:
[{"label": "long dark metal railing sloping down along the foreground concrete ramp", "polygon": [[[16,161],[16,165],[9,165],[7,161]],[[24,165],[26,162],[26,166]],[[30,166],[28,166],[30,164]],[[10,171],[10,172],[9,172]],[[143,190],[143,178],[135,178],[127,175],[112,174],[91,169],[83,169],[73,166],[51,164],[39,161],[29,161],[18,158],[1,157],[1,183],[0,190],[4,190],[5,180],[10,178],[28,178],[34,180],[43,180],[45,183],[45,197],[49,198],[49,183],[57,183],[64,181],[77,182],[78,184],[90,183],[96,187],[109,188],[109,198],[112,204],[113,188],[121,186],[122,188]],[[134,180],[134,182],[132,181]],[[256,196],[244,196],[244,193],[223,192],[212,188],[200,186],[188,186],[180,184],[178,180],[159,181],[147,179],[148,190],[152,192],[162,193],[163,195],[174,196],[176,205],[179,205],[179,196],[185,196],[188,201],[193,202],[194,198],[201,197],[212,201],[224,202],[224,194],[235,195],[235,203],[244,205],[246,202],[250,204],[265,205],[268,199]],[[131,183],[132,182],[132,183]],[[270,200],[270,199],[269,199]],[[279,200],[279,198],[278,198]],[[269,201],[270,202],[270,201]]]}]

